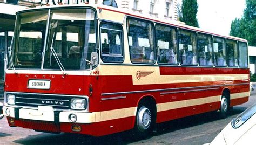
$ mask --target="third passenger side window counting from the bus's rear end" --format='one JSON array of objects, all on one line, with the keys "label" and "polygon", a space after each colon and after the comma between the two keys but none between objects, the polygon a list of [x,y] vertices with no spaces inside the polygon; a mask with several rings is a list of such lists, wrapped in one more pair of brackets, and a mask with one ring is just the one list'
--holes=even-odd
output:
[{"label": "third passenger side window counting from the bus's rear end", "polygon": [[226,47],[224,38],[213,37],[213,51],[215,66],[226,66]]}]

